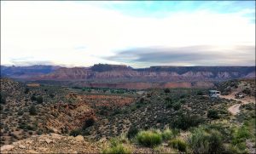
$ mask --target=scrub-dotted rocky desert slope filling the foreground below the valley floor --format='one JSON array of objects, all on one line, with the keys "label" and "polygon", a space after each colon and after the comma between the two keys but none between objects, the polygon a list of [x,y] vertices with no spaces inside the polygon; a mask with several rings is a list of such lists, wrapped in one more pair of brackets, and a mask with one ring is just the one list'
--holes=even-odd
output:
[{"label": "scrub-dotted rocky desert slope filling the foreground below the valley floor", "polygon": [[[218,90],[228,85],[234,87],[231,90],[255,88],[251,80],[219,85]],[[207,145],[214,136],[219,146],[210,150],[255,153],[254,104],[242,105],[234,116],[228,109],[240,101],[212,99],[207,91],[64,88],[2,78],[1,153],[211,153]],[[147,136],[144,130],[159,136],[156,146],[140,140],[139,136]],[[199,139],[204,141],[204,152],[197,151],[201,144],[196,140],[189,141],[198,132],[205,135]],[[172,145],[177,140],[184,149]]]}]

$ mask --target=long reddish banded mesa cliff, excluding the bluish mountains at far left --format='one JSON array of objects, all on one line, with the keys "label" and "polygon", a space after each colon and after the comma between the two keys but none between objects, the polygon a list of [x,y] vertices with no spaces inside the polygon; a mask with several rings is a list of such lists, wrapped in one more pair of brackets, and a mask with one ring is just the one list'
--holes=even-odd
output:
[{"label": "long reddish banded mesa cliff, excluding the bluish mountains at far left", "polygon": [[60,68],[34,77],[38,80],[82,80],[111,82],[193,82],[255,77],[255,66],[150,67],[132,69],[127,66],[95,65],[90,68]]}]

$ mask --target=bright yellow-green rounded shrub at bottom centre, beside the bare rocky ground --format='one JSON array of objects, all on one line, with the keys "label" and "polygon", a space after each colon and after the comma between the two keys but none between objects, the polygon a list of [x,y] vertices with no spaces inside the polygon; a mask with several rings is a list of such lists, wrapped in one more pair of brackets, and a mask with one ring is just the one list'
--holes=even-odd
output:
[{"label": "bright yellow-green rounded shrub at bottom centre, beside the bare rocky ground", "polygon": [[162,136],[152,130],[141,131],[137,134],[137,141],[144,146],[160,145]]}]

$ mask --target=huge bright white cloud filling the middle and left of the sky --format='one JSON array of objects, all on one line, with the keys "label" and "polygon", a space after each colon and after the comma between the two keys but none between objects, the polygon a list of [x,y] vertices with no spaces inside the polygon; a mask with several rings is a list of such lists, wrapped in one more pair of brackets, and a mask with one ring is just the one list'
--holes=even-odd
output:
[{"label": "huge bright white cloud filling the middle and left of the sky", "polygon": [[[13,64],[12,59],[29,56],[33,61],[91,66],[119,64],[101,57],[125,48],[254,45],[255,25],[242,14],[202,10],[156,19],[128,16],[86,2],[4,2],[1,62]],[[78,50],[81,46],[86,48]]]}]

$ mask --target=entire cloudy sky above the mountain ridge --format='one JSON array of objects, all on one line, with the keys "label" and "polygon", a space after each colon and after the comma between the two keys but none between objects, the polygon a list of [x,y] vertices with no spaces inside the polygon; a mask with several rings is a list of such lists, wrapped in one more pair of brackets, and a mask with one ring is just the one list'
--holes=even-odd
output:
[{"label": "entire cloudy sky above the mountain ridge", "polygon": [[255,66],[255,1],[1,1],[1,65]]}]

